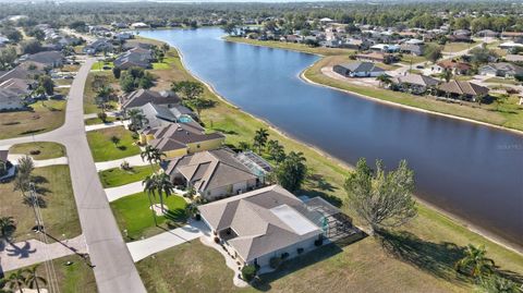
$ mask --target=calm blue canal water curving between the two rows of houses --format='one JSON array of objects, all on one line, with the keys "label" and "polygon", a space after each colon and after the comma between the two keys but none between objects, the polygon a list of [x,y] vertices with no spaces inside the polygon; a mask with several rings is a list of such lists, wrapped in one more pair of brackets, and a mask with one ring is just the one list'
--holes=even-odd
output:
[{"label": "calm blue canal water curving between the two rows of houses", "polygon": [[523,245],[523,136],[306,84],[299,74],[318,57],[227,42],[218,28],[141,35],[178,47],[220,95],[333,157],[406,159],[417,196]]}]

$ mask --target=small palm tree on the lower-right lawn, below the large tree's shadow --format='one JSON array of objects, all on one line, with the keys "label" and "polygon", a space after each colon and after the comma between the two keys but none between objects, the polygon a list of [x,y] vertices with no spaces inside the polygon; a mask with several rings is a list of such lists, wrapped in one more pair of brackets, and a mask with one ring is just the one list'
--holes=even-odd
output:
[{"label": "small palm tree on the lower-right lawn, below the large tree's shadow", "polygon": [[465,256],[455,264],[455,269],[479,279],[485,274],[490,274],[495,264],[492,259],[486,257],[486,254],[485,246],[476,247],[469,244]]}]

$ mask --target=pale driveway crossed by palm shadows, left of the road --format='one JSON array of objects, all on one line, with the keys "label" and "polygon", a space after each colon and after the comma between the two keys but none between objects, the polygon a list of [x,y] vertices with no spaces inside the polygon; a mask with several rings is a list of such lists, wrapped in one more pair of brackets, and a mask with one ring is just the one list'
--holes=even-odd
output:
[{"label": "pale driveway crossed by palm shadows, left of the road", "polygon": [[50,244],[38,240],[19,243],[3,242],[0,244],[0,265],[3,271],[10,271],[74,253],[87,253],[84,235]]}]

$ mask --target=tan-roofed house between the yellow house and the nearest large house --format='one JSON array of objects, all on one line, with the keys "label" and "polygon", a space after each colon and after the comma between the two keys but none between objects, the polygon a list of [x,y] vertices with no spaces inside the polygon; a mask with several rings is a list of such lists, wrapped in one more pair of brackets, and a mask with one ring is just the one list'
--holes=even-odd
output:
[{"label": "tan-roofed house between the yellow house and the nearest large house", "polygon": [[246,193],[260,184],[259,179],[227,148],[174,158],[165,171],[175,185],[192,186],[207,200]]}]

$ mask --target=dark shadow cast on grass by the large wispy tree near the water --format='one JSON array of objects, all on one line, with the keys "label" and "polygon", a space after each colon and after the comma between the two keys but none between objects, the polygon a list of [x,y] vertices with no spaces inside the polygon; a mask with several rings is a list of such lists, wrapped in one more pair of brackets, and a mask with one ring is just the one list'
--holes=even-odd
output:
[{"label": "dark shadow cast on grass by the large wispy tree near the water", "polygon": [[385,251],[402,261],[449,282],[470,281],[454,270],[455,263],[465,256],[464,246],[424,241],[406,231],[380,231],[377,236]]}]

